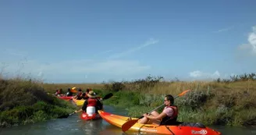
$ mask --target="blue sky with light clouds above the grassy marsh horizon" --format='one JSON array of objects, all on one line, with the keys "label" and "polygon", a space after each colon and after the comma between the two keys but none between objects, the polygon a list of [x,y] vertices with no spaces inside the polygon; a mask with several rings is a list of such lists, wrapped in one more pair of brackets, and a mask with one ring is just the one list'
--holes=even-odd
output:
[{"label": "blue sky with light clouds above the grassy marsh horizon", "polygon": [[256,1],[0,1],[0,74],[45,83],[255,73]]}]

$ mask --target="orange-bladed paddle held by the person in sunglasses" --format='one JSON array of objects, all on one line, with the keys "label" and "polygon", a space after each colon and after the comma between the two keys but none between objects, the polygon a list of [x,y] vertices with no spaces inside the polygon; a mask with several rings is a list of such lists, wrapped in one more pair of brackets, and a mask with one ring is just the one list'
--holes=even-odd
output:
[{"label": "orange-bladed paddle held by the person in sunglasses", "polygon": [[[183,96],[184,94],[186,94],[188,91],[190,90],[187,90],[187,91],[183,91],[181,94],[178,94],[175,98],[178,98],[178,97],[181,97]],[[165,104],[162,104],[162,105],[165,105]],[[156,109],[162,107],[162,105],[159,105],[157,108],[154,108],[153,110],[151,110],[151,112],[155,111]],[[148,112],[148,114],[151,114],[151,112]],[[144,116],[141,116],[139,119],[143,118]],[[126,132],[127,130],[130,129],[130,127],[132,127],[135,123],[137,123],[137,121],[139,119],[132,119],[132,120],[129,120],[127,121],[126,123],[123,124],[122,126],[122,130],[123,132]]]}]

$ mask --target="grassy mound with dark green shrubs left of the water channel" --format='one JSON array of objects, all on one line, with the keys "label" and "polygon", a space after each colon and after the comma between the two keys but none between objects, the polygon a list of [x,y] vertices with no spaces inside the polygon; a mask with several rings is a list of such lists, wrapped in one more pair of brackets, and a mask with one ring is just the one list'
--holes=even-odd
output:
[{"label": "grassy mound with dark green shrubs left of the water channel", "polygon": [[75,107],[44,91],[40,82],[0,78],[0,127],[65,117]]}]

